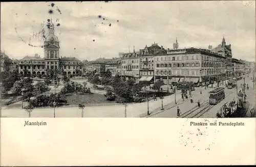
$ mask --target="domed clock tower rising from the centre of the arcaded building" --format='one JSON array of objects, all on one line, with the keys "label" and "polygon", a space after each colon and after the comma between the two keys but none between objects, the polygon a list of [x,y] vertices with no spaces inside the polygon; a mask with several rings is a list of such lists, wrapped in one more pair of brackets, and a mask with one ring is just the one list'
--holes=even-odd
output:
[{"label": "domed clock tower rising from the centre of the arcaded building", "polygon": [[45,40],[45,69],[59,69],[59,40],[54,35],[54,24],[48,23],[49,35]]}]

